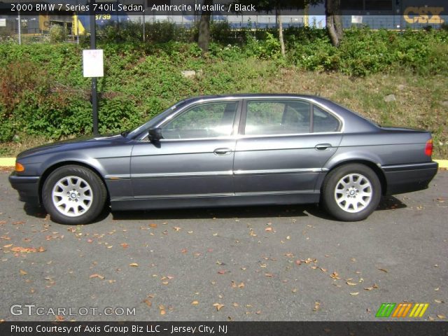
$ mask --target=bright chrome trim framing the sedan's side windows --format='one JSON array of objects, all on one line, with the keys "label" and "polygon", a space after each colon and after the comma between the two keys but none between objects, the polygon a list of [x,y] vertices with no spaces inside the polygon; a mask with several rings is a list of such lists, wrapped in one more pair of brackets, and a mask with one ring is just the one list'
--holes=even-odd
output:
[{"label": "bright chrome trim framing the sedan's side windows", "polygon": [[[344,118],[342,118],[342,116],[339,116],[338,113],[336,113],[335,111],[333,111],[332,109],[329,109],[328,106],[325,106],[324,104],[322,104],[321,102],[316,101],[316,99],[313,98],[309,98],[309,97],[291,97],[291,96],[263,96],[263,97],[235,97],[235,96],[229,96],[229,97],[213,97],[213,98],[204,98],[204,99],[199,99],[196,100],[195,102],[191,102],[190,104],[187,104],[186,106],[182,106],[181,109],[179,109],[179,111],[175,111],[172,115],[169,115],[167,118],[165,118],[164,120],[160,121],[160,123],[156,124],[155,127],[161,127],[162,125],[164,125],[165,123],[167,123],[169,120],[172,120],[172,118],[174,118],[175,116],[177,116],[179,113],[183,113],[184,110],[190,108],[190,106],[196,105],[196,104],[202,104],[204,102],[228,102],[228,101],[241,101],[241,104],[244,104],[244,101],[248,101],[248,100],[284,100],[284,99],[290,99],[290,100],[302,100],[305,102],[309,102],[311,104],[315,104],[316,106],[320,107],[321,109],[323,109],[324,111],[330,113],[332,116],[334,116],[335,118],[337,118],[337,120],[339,120],[340,125],[340,130],[337,132],[314,132],[314,133],[290,133],[290,134],[265,134],[265,135],[245,135],[245,134],[232,134],[230,137],[214,137],[214,138],[195,138],[195,139],[160,139],[160,141],[193,141],[193,140],[220,140],[220,139],[229,139],[229,140],[233,140],[233,139],[245,139],[245,138],[260,138],[260,137],[291,137],[291,136],[295,136],[295,135],[309,135],[309,134],[342,134],[345,130],[345,120]],[[237,120],[238,123],[241,121],[241,115],[239,116],[240,120]],[[144,132],[144,134],[137,139],[137,141],[143,141],[143,139],[145,139],[146,137],[148,137],[148,132]]]}]

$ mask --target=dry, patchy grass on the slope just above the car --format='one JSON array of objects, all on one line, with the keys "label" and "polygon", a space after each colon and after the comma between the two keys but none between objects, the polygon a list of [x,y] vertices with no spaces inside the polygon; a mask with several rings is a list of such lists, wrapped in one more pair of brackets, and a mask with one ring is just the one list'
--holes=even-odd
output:
[{"label": "dry, patchy grass on the slope just above the car", "polygon": [[[448,80],[445,76],[426,77],[406,71],[395,71],[353,78],[340,73],[302,71],[291,66],[279,67],[274,61],[250,58],[244,59],[244,62],[228,60],[202,65],[203,76],[184,81],[183,92],[178,94],[317,94],[357,111],[381,125],[430,130],[435,144],[434,158],[448,159]],[[123,92],[128,92],[132,97],[131,87],[123,88]],[[384,102],[384,97],[388,94],[394,94],[396,101]],[[173,103],[169,99],[164,101],[167,106]],[[0,144],[0,155],[14,156],[26,148],[48,142],[45,137],[19,134],[19,139]]]}]

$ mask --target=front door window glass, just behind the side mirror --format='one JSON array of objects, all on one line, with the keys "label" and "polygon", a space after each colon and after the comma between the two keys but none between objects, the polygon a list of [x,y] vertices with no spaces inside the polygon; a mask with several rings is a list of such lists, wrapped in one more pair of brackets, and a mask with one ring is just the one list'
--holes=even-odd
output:
[{"label": "front door window glass, just behind the side mirror", "polygon": [[163,139],[200,139],[232,135],[238,102],[193,106],[162,126]]}]

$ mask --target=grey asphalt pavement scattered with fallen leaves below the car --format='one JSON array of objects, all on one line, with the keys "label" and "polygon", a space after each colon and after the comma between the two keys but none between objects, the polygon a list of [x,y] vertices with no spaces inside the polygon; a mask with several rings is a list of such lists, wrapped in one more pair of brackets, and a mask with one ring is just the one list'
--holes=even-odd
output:
[{"label": "grey asphalt pavement scattered with fallen leaves below the car", "polygon": [[0,320],[375,321],[383,302],[421,302],[405,320],[446,321],[447,190],[440,170],[358,223],[304,205],[69,226],[24,207],[0,172]]}]

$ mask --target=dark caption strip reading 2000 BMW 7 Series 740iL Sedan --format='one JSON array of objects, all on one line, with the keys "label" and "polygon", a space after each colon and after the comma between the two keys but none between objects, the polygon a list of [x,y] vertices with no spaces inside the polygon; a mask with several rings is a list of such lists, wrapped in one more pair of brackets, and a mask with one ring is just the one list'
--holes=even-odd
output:
[{"label": "dark caption strip reading 2000 BMW 7 Series 740iL Sedan", "polygon": [[[325,0],[0,0],[0,15],[325,15]],[[341,15],[448,15],[446,0],[340,0]]]}]

